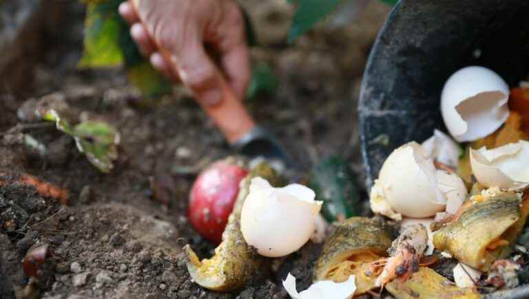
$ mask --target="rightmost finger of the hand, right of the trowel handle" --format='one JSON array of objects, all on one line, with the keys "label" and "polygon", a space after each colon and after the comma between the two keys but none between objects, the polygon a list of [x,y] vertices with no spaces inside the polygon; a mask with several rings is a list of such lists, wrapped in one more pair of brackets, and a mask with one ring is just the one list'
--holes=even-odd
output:
[{"label": "rightmost finger of the hand, right of the trowel handle", "polygon": [[246,89],[251,79],[250,54],[247,45],[240,43],[222,54],[222,68],[229,85],[240,100],[246,98]]}]

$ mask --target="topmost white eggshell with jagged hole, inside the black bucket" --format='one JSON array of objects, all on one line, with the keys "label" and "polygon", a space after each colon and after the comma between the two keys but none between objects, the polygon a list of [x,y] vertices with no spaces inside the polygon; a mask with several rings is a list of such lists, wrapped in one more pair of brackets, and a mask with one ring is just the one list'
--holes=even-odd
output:
[{"label": "topmost white eggshell with jagged hole, inside the black bucket", "polygon": [[507,83],[485,67],[464,67],[446,81],[441,113],[458,142],[474,141],[496,131],[509,115]]}]

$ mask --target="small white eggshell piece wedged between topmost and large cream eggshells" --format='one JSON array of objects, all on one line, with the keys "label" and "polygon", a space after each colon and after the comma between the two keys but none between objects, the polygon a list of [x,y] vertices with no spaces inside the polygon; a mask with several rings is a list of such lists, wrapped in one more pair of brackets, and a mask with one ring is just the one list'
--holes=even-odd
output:
[{"label": "small white eggshell piece wedged between topmost and large cream eggshells", "polygon": [[461,148],[450,136],[442,131],[435,129],[433,136],[423,142],[421,146],[432,159],[446,166],[457,168]]}]

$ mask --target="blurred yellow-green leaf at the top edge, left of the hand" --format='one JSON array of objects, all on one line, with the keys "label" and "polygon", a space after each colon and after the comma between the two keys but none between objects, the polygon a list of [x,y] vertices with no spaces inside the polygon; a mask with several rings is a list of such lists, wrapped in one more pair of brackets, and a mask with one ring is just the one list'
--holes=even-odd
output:
[{"label": "blurred yellow-green leaf at the top edge, left of the hand", "polygon": [[113,7],[116,5],[88,4],[85,48],[78,67],[116,67],[123,64],[123,52],[118,43],[123,25],[119,20],[117,7],[116,12],[109,9]]}]

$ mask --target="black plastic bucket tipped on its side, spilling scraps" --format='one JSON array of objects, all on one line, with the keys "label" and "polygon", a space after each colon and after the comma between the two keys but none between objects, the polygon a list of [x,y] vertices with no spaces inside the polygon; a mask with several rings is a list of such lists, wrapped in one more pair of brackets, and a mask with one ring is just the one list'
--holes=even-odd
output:
[{"label": "black plastic bucket tipped on its side, spilling scraps", "polygon": [[[445,131],[439,97],[461,67],[529,76],[529,0],[402,0],[371,51],[358,112],[366,188],[398,146]],[[529,286],[488,298],[529,298]]]}]

